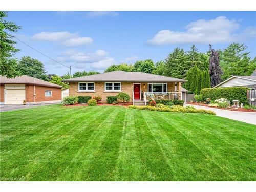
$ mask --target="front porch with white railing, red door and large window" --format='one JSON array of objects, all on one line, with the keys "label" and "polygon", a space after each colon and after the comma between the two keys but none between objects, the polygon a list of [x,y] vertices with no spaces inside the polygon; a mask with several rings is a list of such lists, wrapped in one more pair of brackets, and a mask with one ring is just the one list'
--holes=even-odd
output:
[{"label": "front porch with white railing, red door and large window", "polygon": [[133,83],[133,105],[150,100],[182,100],[181,82]]}]

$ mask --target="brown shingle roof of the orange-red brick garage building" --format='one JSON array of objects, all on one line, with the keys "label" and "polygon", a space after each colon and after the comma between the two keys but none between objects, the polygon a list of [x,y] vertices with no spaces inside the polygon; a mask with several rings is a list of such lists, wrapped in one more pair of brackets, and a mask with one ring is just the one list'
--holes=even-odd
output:
[{"label": "brown shingle roof of the orange-red brick garage building", "polygon": [[58,84],[54,84],[41,79],[30,77],[28,75],[22,75],[15,78],[7,78],[7,77],[0,76],[0,84],[35,84],[38,86],[62,88]]}]

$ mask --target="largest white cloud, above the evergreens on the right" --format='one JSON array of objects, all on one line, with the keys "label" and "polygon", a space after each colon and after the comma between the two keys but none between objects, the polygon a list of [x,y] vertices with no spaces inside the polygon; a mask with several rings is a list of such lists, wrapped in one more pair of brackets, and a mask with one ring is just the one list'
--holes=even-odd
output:
[{"label": "largest white cloud, above the evergreens on the right", "polygon": [[239,28],[236,20],[229,20],[224,16],[211,20],[200,19],[189,23],[186,31],[159,31],[150,45],[191,44],[191,43],[218,43],[230,42],[238,38],[234,33]]}]

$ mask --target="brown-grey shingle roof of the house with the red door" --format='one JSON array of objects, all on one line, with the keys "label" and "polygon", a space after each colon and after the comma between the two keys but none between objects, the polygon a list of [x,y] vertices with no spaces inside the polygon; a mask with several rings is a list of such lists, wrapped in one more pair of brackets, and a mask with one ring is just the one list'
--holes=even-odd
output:
[{"label": "brown-grey shingle roof of the house with the red door", "polygon": [[65,79],[64,82],[109,81],[109,82],[186,82],[184,79],[154,75],[142,72],[112,71],[84,77]]}]

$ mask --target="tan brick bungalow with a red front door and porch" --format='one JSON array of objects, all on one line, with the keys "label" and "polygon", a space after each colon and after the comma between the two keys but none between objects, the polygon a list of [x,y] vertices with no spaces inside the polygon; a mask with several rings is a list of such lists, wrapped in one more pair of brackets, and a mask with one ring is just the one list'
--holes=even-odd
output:
[{"label": "tan brick bungalow with a red front door and porch", "polygon": [[150,97],[155,99],[182,100],[181,83],[184,79],[142,73],[112,71],[63,80],[69,82],[70,96],[116,96],[119,92],[130,95],[133,104],[146,104]]}]

